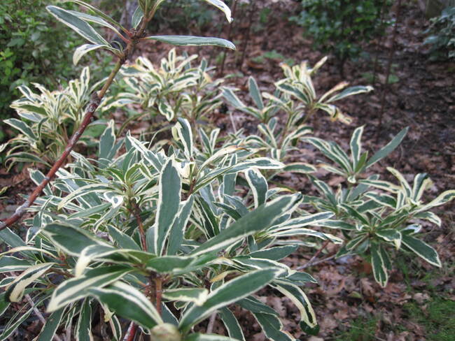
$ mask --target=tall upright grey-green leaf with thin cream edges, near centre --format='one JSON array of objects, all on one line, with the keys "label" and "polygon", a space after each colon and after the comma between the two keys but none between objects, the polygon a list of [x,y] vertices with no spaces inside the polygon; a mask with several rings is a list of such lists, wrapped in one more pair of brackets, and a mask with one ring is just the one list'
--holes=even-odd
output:
[{"label": "tall upright grey-green leaf with thin cream edges, near centre", "polygon": [[166,238],[171,233],[176,216],[179,212],[181,179],[179,170],[169,159],[160,174],[158,210],[155,218],[155,252],[163,254]]}]

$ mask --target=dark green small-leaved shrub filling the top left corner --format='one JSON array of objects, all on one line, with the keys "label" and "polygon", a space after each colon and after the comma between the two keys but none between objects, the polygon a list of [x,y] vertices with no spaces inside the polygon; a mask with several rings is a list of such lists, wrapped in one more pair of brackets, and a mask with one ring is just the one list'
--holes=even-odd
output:
[{"label": "dark green small-leaved shrub filling the top left corner", "polygon": [[[49,2],[57,1],[0,1],[0,119],[13,113],[9,106],[20,96],[19,85],[39,82],[55,88],[61,79],[80,72],[67,52],[80,45],[80,39],[55,29],[55,20],[45,10]],[[0,140],[5,137],[0,129]]]}]

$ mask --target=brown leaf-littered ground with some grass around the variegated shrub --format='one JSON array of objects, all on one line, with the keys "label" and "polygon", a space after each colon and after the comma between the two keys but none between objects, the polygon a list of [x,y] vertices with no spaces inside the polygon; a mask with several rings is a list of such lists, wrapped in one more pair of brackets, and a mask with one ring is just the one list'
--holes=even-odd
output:
[{"label": "brown leaf-littered ground with some grass around the variegated shrub", "polygon": [[[273,1],[267,3],[270,2]],[[239,15],[246,19],[237,24],[232,40],[240,48],[237,52],[228,53],[225,61],[225,74],[233,75],[226,83],[241,89],[239,96],[246,103],[249,101],[246,82],[250,75],[258,80],[263,91],[272,92],[274,82],[283,78],[279,66],[282,61],[300,63],[307,60],[311,66],[323,57],[320,52],[311,49],[311,41],[302,36],[303,29],[286,20],[293,11],[292,6],[295,6],[292,1],[270,6],[273,6],[273,14],[266,18],[266,22],[253,25],[241,67],[237,66],[237,62],[242,59],[248,15]],[[325,92],[342,80],[349,81],[351,85],[367,85],[371,82],[374,59],[378,57],[378,84],[374,84],[375,91],[350,97],[339,104],[344,112],[354,118],[354,122],[346,126],[340,122],[330,122],[328,117],[321,115],[316,117],[317,122],[312,123],[317,126],[316,136],[334,140],[342,147],[349,145],[349,138],[356,126],[365,125],[363,146],[370,152],[386,145],[398,131],[409,126],[409,133],[398,150],[384,161],[382,167],[377,165],[373,170],[380,172],[381,178],[386,180],[392,178],[386,173],[384,165],[397,168],[407,180],[411,180],[416,173],[428,173],[434,182],[430,189],[430,196],[434,197],[444,189],[455,188],[455,64],[429,59],[428,48],[422,45],[425,38],[422,32],[428,27],[428,20],[414,1],[409,1],[403,7],[394,45],[392,34],[387,34],[384,41],[378,39],[365,45],[365,55],[369,57],[347,61],[344,77],[340,75],[333,59],[329,59],[315,77],[318,92]],[[188,33],[175,32],[166,25],[161,28],[164,30],[160,32],[162,34]],[[390,31],[392,29],[389,28]],[[218,31],[212,30],[211,34],[220,36]],[[227,27],[224,27],[221,36],[225,38],[226,35]],[[393,46],[393,82],[384,87],[379,82],[384,82],[386,62]],[[212,64],[221,60],[220,50],[185,50],[206,57]],[[168,51],[167,45],[157,43],[136,54],[159,61]],[[386,92],[385,110],[379,126],[383,91]],[[237,128],[244,127],[246,131],[255,133],[258,122],[254,119],[237,111],[232,112],[232,117]],[[225,131],[232,130],[229,115],[216,115],[211,122]],[[140,129],[140,124],[132,128]],[[320,157],[309,145],[304,145],[299,153],[300,161],[310,164],[316,164]],[[332,186],[342,180],[323,170],[316,176],[327,180]],[[0,170],[0,177],[0,188],[2,183],[18,182],[18,187],[8,190],[8,196],[27,193],[31,187],[25,175],[11,177],[6,170]],[[303,176],[283,177],[281,181],[305,194],[312,190],[311,184]],[[13,210],[15,202],[3,202],[0,206],[0,209]],[[261,291],[259,296],[281,312],[284,329],[300,340],[454,340],[455,205],[444,205],[435,212],[442,218],[442,226],[424,226],[424,239],[439,252],[442,268],[434,268],[415,256],[402,253],[395,259],[395,270],[384,289],[374,282],[370,264],[356,256],[326,261],[305,269],[319,282],[304,288],[321,325],[318,336],[310,337],[300,331],[298,311],[290,300],[276,294],[268,296],[267,291]],[[335,249],[335,245],[329,245],[319,258],[332,254]],[[307,263],[314,254],[311,249],[301,248],[299,251],[300,254],[284,260],[291,268]],[[244,312],[237,311],[237,314]],[[246,340],[265,340],[260,327],[251,324],[251,321],[252,317],[244,319]],[[221,323],[216,324],[214,332],[222,332],[222,328]]]}]

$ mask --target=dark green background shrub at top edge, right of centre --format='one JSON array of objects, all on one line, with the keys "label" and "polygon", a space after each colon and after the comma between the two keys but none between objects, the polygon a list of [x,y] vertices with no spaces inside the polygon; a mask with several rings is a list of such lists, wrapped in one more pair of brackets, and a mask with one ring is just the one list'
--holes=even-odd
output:
[{"label": "dark green background shrub at top edge, right of centre", "polygon": [[363,42],[384,31],[381,10],[390,4],[390,0],[302,0],[302,12],[291,20],[305,27],[304,34],[313,38],[315,48],[333,53],[343,64],[360,55]]}]

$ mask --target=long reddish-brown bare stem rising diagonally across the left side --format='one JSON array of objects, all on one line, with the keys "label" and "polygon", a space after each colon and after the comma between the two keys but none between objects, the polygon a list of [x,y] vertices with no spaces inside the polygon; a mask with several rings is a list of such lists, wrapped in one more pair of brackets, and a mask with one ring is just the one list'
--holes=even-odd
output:
[{"label": "long reddish-brown bare stem rising diagonally across the left side", "polygon": [[141,23],[141,27],[137,31],[137,34],[134,34],[134,36],[132,36],[132,40],[130,41],[130,43],[128,43],[125,50],[123,50],[123,53],[118,59],[116,66],[114,66],[113,70],[111,71],[111,74],[109,75],[108,80],[106,80],[106,83],[104,83],[104,86],[99,91],[99,93],[97,94],[96,92],[94,92],[92,94],[92,98],[90,99],[87,109],[85,110],[83,121],[80,124],[79,128],[76,130],[76,132],[73,133],[73,136],[66,145],[66,148],[62,155],[59,157],[57,161],[55,161],[54,166],[50,168],[48,174],[46,174],[41,184],[38,184],[35,190],[30,194],[29,198],[27,198],[25,203],[20,205],[19,208],[8,219],[0,221],[0,231],[3,230],[4,228],[7,228],[8,226],[11,226],[15,222],[17,222],[23,215],[25,215],[25,212],[27,212],[27,208],[29,208],[34,203],[36,198],[40,196],[43,189],[49,184],[50,180],[52,180],[52,178],[55,177],[55,173],[57,173],[57,170],[59,170],[59,168],[63,166],[64,161],[71,153],[71,150],[73,150],[80,136],[82,136],[87,126],[92,122],[94,112],[97,110],[99,103],[101,103],[101,100],[103,99],[107,90],[111,86],[114,78],[116,78],[118,71],[120,70],[122,65],[125,64],[125,61],[127,61],[128,57],[130,56],[130,53],[132,52],[132,50],[134,50],[134,47],[139,42],[140,38],[144,35],[147,23],[153,17],[153,13],[151,13],[151,15],[149,15],[147,18],[144,17]]}]

